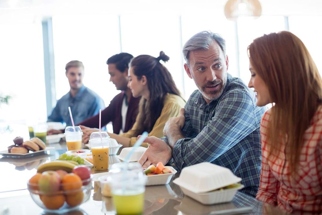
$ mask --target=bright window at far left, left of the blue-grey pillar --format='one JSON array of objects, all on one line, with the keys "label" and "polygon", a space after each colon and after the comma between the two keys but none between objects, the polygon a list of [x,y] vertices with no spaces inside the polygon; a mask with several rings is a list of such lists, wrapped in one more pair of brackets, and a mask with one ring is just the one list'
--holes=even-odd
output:
[{"label": "bright window at far left, left of the blue-grey pillar", "polygon": [[0,120],[29,123],[46,120],[41,23],[0,24]]}]

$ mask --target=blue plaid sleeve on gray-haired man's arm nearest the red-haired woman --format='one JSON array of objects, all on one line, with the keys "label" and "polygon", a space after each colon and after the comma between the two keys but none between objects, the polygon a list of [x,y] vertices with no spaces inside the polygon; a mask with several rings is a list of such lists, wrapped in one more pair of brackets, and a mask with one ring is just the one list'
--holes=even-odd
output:
[{"label": "blue plaid sleeve on gray-haired man's arm nearest the red-haired woman", "polygon": [[[175,166],[182,169],[200,162],[211,162],[230,150],[256,129],[254,104],[248,93],[232,90],[223,95],[213,118],[194,138],[175,143]],[[238,156],[231,150],[232,156]],[[227,161],[229,162],[229,161]]]}]

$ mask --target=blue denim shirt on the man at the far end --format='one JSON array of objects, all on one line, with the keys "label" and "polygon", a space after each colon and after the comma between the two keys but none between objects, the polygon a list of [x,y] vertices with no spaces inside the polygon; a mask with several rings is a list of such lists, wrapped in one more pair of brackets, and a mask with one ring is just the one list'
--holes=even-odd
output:
[{"label": "blue denim shirt on the man at the far end", "polygon": [[68,92],[57,101],[56,107],[53,109],[52,114],[48,116],[47,122],[66,122],[66,126],[70,126],[69,106],[71,107],[71,114],[75,124],[96,115],[99,113],[99,109],[103,110],[105,108],[102,98],[83,85],[75,97],[71,97],[71,93]]}]

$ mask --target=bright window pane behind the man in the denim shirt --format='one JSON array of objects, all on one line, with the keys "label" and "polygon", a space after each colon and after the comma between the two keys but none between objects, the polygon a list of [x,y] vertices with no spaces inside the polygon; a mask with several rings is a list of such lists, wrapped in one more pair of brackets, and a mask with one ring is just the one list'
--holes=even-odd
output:
[{"label": "bright window pane behind the man in the denim shirt", "polygon": [[55,55],[56,99],[69,92],[65,65],[82,61],[83,83],[109,105],[118,93],[109,82],[107,59],[120,52],[119,25],[116,15],[56,15],[52,18]]}]

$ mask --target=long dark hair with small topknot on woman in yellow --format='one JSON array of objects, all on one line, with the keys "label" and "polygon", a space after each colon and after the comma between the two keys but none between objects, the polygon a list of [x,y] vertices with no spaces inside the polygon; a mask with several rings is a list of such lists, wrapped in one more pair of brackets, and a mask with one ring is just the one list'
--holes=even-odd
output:
[{"label": "long dark hair with small topknot on woman in yellow", "polygon": [[138,121],[137,135],[143,131],[151,132],[156,120],[159,118],[164,100],[167,93],[180,96],[175,82],[167,70],[167,68],[160,63],[160,60],[167,62],[170,58],[163,52],[157,58],[143,54],[139,55],[130,63],[133,73],[140,80],[143,75],[147,77],[147,87],[150,92],[150,98],[140,101],[140,115]]}]

